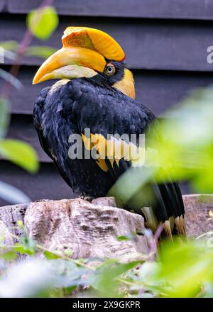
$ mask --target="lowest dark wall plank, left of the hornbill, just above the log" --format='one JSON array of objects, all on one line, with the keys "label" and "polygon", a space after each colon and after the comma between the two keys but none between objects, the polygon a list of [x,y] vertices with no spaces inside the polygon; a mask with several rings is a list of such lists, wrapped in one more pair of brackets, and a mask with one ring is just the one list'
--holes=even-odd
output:
[{"label": "lowest dark wall plank, left of the hornbill, just above the log", "polygon": [[[10,162],[0,161],[1,181],[21,189],[32,201],[38,199],[71,199],[75,195],[53,164],[41,164],[38,174],[28,174]],[[0,198],[0,206],[6,203]]]}]

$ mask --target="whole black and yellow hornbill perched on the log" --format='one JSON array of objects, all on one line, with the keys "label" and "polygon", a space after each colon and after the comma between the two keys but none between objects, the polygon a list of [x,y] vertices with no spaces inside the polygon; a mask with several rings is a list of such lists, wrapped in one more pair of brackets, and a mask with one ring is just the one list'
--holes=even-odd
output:
[{"label": "whole black and yellow hornbill perched on the log", "polygon": [[[33,84],[38,84],[60,79],[52,87],[43,89],[36,99],[35,128],[43,150],[75,192],[106,196],[119,175],[129,167],[129,161],[123,157],[114,161],[70,159],[70,135],[82,135],[88,148],[85,128],[89,128],[92,135],[106,139],[110,133],[139,135],[155,121],[155,116],[135,101],[133,75],[123,62],[124,51],[107,33],[69,27],[62,36],[62,45],[62,49],[38,69],[33,80]],[[184,235],[185,211],[178,184],[153,184],[153,192],[155,204],[149,210],[143,209],[146,224],[155,230],[163,223],[169,236]]]}]

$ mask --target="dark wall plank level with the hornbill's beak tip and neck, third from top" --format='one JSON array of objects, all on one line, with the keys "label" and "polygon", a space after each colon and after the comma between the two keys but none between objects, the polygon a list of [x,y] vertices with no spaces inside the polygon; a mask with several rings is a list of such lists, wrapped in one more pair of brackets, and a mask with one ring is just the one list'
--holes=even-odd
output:
[{"label": "dark wall plank level with the hornbill's beak tip and neck, third from top", "polygon": [[[6,70],[9,67],[4,67]],[[23,89],[11,92],[11,112],[31,114],[36,96],[41,89],[51,86],[55,81],[32,85],[37,67],[22,67],[18,75]],[[197,87],[212,84],[211,73],[154,72],[135,70],[136,99],[150,108],[156,115],[176,104],[187,92]],[[3,81],[0,79],[0,89]]]}]

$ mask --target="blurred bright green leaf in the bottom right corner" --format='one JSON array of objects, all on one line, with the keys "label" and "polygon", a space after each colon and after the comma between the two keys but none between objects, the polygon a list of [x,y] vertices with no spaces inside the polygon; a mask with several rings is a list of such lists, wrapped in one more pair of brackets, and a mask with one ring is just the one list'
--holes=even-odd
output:
[{"label": "blurred bright green leaf in the bottom right corner", "polygon": [[202,296],[213,281],[213,249],[204,242],[165,241],[160,250],[152,282],[164,284],[161,290],[169,297]]}]

